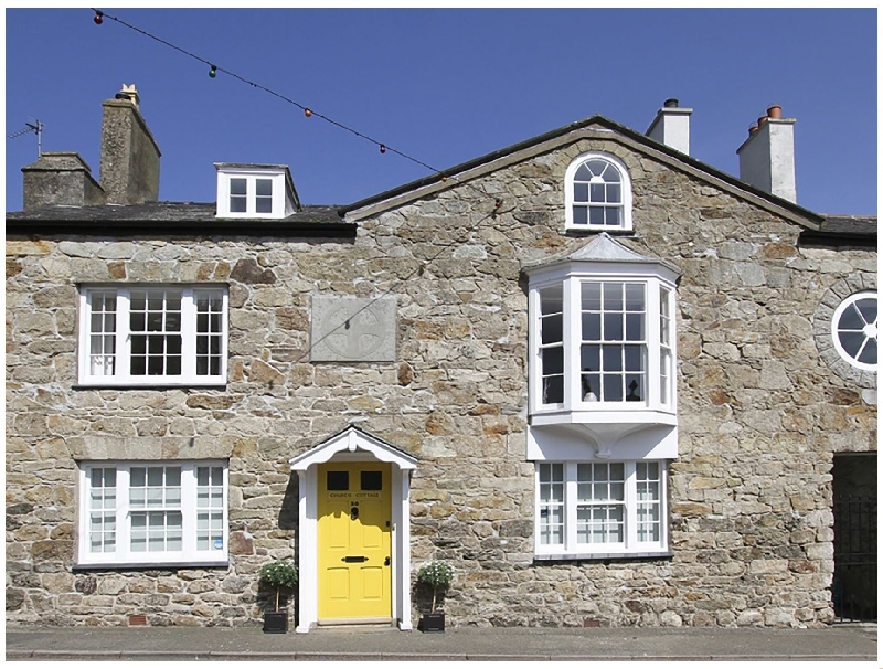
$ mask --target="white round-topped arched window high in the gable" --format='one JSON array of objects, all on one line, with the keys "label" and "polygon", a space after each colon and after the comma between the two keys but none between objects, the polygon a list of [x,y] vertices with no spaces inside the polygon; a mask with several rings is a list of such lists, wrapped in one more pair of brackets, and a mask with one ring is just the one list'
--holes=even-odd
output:
[{"label": "white round-topped arched window high in the gable", "polygon": [[631,180],[607,153],[584,153],[567,168],[567,230],[631,230]]}]

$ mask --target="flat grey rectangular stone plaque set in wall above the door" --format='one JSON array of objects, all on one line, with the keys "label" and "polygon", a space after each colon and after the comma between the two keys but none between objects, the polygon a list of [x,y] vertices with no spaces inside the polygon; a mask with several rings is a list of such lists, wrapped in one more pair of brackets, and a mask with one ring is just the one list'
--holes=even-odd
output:
[{"label": "flat grey rectangular stone plaque set in wall above the door", "polygon": [[395,297],[312,298],[310,360],[394,362]]}]

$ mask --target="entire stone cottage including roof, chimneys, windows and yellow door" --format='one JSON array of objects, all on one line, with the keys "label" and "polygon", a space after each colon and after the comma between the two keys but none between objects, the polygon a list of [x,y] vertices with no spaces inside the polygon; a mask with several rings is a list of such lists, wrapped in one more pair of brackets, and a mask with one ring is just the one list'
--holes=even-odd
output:
[{"label": "entire stone cottage including roof, chimneys, windows and yellow door", "polygon": [[279,558],[298,631],[416,627],[433,559],[449,626],[833,622],[871,587],[834,491],[875,512],[876,220],[795,203],[777,108],[740,178],[690,112],[333,208],[280,164],[158,201],[105,102],[100,182],[45,153],[7,214],[8,624],[259,625]]}]

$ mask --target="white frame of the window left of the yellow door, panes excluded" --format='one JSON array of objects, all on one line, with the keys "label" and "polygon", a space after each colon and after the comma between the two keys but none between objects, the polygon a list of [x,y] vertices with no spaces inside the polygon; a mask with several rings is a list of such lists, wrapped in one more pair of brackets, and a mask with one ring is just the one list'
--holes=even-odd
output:
[{"label": "white frame of the window left of the yellow door, panes excluded", "polygon": [[[151,467],[180,467],[180,512],[181,512],[181,550],[180,551],[132,551],[132,513],[140,514],[147,510],[161,511],[166,507],[141,507],[132,505],[129,492],[131,489],[131,470],[134,468]],[[215,467],[222,470],[223,491],[220,505],[216,499],[206,509],[205,505],[198,501],[198,468]],[[99,514],[99,510],[92,502],[92,474],[95,469],[115,469],[116,480],[110,495],[103,496],[105,499],[104,516],[107,519],[107,527],[110,528],[106,533],[114,533],[111,541],[102,542],[102,546],[113,550],[93,551],[91,542],[92,519]],[[211,481],[211,479],[210,479]],[[152,566],[160,564],[174,564],[185,566],[212,566],[226,565],[228,563],[228,465],[224,460],[164,460],[164,461],[85,461],[79,465],[79,541],[77,562],[79,566]],[[111,498],[110,498],[111,497]],[[110,498],[110,499],[108,499]],[[96,501],[96,503],[98,503]],[[175,505],[170,505],[168,509],[174,511]],[[222,512],[221,537],[211,540],[208,550],[198,549],[198,513],[212,511]],[[213,537],[214,533],[210,533]]]}]

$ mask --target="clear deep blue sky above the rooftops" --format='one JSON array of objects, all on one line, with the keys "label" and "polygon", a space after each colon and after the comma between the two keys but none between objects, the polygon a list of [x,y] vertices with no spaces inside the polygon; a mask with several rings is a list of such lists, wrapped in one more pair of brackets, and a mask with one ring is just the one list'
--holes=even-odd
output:
[{"label": "clear deep blue sky above the rooftops", "polygon": [[[160,200],[213,202],[214,162],[266,162],[289,166],[305,204],[347,204],[593,114],[643,132],[675,97],[691,155],[735,176],[748,127],[781,105],[798,204],[876,214],[873,7],[100,9],[394,149],[88,9],[7,9],[7,136],[39,120],[44,151],[98,178],[100,103],[135,83]],[[6,146],[18,211],[36,137]]]}]

